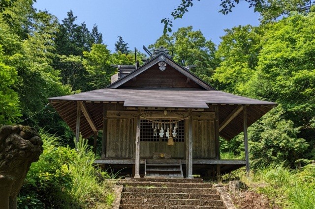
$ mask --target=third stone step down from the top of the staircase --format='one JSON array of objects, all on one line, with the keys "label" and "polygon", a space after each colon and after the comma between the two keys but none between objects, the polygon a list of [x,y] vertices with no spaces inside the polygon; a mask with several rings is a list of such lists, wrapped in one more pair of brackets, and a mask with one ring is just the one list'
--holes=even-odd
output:
[{"label": "third stone step down from the top of the staircase", "polygon": [[161,188],[161,187],[123,187],[123,192],[134,193],[186,193],[186,194],[217,194],[212,188]]}]

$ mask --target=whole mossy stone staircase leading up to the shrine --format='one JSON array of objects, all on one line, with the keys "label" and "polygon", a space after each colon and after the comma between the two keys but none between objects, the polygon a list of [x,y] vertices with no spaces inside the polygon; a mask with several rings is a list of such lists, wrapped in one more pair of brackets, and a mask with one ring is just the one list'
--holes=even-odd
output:
[{"label": "whole mossy stone staircase leading up to the shrine", "polygon": [[225,209],[202,179],[129,178],[122,182],[120,209]]}]

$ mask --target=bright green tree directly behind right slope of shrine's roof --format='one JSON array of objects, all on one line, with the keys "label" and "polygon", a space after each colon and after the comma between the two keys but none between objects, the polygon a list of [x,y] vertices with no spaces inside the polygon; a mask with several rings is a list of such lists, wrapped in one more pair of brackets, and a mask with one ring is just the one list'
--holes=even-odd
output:
[{"label": "bright green tree directly behind right slope of shrine's roof", "polygon": [[213,79],[219,89],[242,94],[244,83],[255,72],[262,36],[260,27],[237,26],[225,29],[226,34],[216,52],[221,60]]}]

